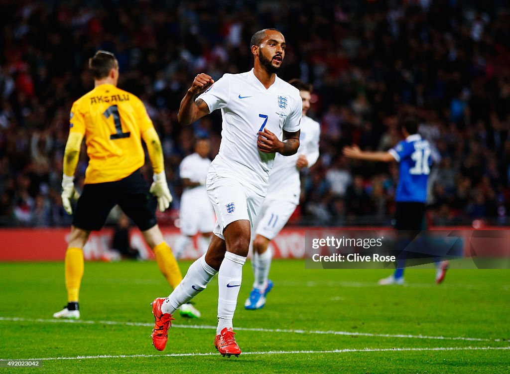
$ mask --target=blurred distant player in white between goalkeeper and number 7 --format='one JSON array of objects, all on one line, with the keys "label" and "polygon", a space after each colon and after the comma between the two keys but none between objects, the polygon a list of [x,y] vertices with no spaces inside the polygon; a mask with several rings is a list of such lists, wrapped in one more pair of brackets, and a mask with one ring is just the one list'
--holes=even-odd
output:
[{"label": "blurred distant player in white between goalkeeper and number 7", "polygon": [[198,249],[202,255],[207,252],[211,241],[215,217],[206,190],[207,170],[211,165],[210,150],[209,139],[197,139],[195,153],[186,156],[179,167],[184,190],[179,211],[181,236],[177,239],[174,247],[174,256],[177,259],[192,243],[195,234],[200,233]]}]

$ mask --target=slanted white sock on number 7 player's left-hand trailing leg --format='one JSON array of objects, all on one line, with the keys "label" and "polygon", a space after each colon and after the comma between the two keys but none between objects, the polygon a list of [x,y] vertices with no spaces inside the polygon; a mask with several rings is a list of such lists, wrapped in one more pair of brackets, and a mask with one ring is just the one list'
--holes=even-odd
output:
[{"label": "slanted white sock on number 7 player's left-hand trailing leg", "polygon": [[206,263],[206,255],[193,262],[184,279],[161,305],[163,313],[173,314],[181,305],[188,303],[200,291],[205,290],[208,283],[218,271]]}]

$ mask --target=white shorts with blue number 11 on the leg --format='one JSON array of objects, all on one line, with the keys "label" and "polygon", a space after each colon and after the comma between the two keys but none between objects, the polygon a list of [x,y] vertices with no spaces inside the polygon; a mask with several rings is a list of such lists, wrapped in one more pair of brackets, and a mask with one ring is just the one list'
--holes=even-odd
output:
[{"label": "white shorts with blue number 11 on the leg", "polygon": [[255,233],[272,240],[283,229],[297,204],[282,200],[265,200],[259,212]]}]

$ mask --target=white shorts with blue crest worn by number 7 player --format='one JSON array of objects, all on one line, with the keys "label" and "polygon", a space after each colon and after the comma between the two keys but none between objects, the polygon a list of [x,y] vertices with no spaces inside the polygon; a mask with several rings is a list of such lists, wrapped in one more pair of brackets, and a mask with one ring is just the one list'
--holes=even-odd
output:
[{"label": "white shorts with blue crest worn by number 7 player", "polygon": [[223,230],[234,221],[247,219],[253,229],[264,197],[233,179],[220,177],[216,172],[207,174],[207,194],[216,213],[216,225],[213,233],[225,239]]}]

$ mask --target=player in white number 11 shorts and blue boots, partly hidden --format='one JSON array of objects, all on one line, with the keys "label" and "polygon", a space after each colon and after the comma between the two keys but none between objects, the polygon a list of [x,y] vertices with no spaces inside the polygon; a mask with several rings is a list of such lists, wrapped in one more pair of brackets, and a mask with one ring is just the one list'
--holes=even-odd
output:
[{"label": "player in white number 11 shorts and blue boots, partly hidden", "polygon": [[271,249],[269,242],[283,229],[290,216],[299,204],[301,181],[299,170],[311,167],[319,158],[320,124],[307,117],[310,109],[312,85],[298,79],[289,81],[299,90],[303,112],[301,118],[301,135],[299,149],[293,156],[276,155],[269,176],[269,190],[262,209],[257,217],[253,239],[253,288],[244,303],[248,310],[261,309],[266,304],[266,295],[273,287],[268,279],[271,266]]}]

